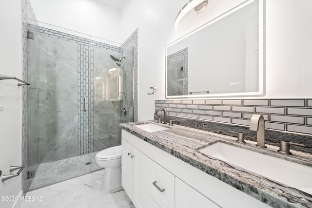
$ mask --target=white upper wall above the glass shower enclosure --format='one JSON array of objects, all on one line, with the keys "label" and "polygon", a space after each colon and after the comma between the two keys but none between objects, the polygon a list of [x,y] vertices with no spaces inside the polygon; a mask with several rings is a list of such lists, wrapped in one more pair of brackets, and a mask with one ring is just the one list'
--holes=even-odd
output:
[{"label": "white upper wall above the glass shower enclosure", "polygon": [[38,21],[121,42],[119,12],[94,0],[30,0]]}]

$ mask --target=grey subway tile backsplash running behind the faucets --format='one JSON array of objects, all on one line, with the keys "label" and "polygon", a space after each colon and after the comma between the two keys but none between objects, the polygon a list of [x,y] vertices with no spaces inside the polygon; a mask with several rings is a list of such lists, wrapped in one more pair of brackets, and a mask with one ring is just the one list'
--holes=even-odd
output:
[{"label": "grey subway tile backsplash running behind the faucets", "polygon": [[155,110],[160,107],[166,108],[169,115],[244,126],[249,126],[253,114],[262,114],[266,129],[312,134],[311,98],[156,100]]}]

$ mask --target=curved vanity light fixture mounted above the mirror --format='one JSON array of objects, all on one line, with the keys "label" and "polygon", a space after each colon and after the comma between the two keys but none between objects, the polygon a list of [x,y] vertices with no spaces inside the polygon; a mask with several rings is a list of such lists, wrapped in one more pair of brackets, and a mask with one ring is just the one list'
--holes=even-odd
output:
[{"label": "curved vanity light fixture mounted above the mirror", "polygon": [[189,0],[179,11],[176,16],[175,27],[180,22],[180,20],[193,8],[197,13],[203,12],[208,4],[208,0]]}]

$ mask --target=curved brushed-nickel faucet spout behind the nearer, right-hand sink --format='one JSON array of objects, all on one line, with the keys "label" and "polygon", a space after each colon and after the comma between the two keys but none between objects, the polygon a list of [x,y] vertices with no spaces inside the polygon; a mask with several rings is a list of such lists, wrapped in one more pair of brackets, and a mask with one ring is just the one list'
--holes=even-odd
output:
[{"label": "curved brushed-nickel faucet spout behind the nearer, right-hand sink", "polygon": [[265,146],[265,122],[263,115],[253,115],[250,119],[251,131],[257,131],[257,146],[258,148],[267,148]]}]

